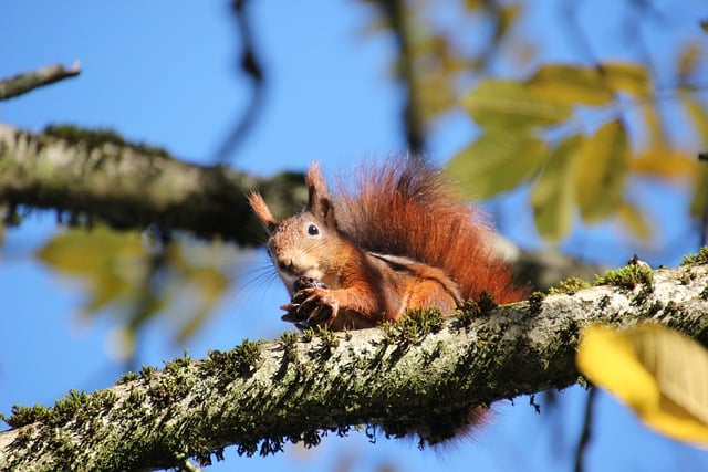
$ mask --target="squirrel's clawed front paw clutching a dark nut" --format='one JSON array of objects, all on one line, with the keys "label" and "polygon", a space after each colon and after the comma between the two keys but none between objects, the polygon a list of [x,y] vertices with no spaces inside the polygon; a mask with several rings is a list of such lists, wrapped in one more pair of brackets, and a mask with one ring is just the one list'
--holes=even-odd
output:
[{"label": "squirrel's clawed front paw clutching a dark nut", "polygon": [[339,312],[339,302],[325,284],[312,279],[298,280],[294,284],[295,295],[290,303],[281,306],[288,314],[285,322],[302,327],[330,325]]}]

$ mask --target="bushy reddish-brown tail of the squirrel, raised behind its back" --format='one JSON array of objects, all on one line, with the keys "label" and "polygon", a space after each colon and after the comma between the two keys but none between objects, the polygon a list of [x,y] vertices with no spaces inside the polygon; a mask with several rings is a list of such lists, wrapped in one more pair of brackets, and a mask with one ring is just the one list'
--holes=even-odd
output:
[{"label": "bushy reddish-brown tail of the squirrel, raised behind its back", "polygon": [[419,159],[364,166],[356,182],[339,182],[333,201],[337,225],[354,243],[442,269],[464,300],[487,292],[503,304],[527,295],[493,247],[479,210]]}]

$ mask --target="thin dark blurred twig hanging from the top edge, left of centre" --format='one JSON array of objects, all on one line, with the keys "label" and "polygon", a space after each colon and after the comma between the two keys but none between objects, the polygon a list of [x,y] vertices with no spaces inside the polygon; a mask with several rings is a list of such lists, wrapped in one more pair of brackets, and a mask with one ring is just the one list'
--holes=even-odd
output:
[{"label": "thin dark blurred twig hanging from the top edge, left of centre", "polygon": [[244,75],[250,78],[252,92],[250,101],[243,114],[236,122],[233,129],[221,144],[217,151],[216,160],[225,162],[233,154],[236,147],[243,140],[246,134],[251,129],[258,113],[262,107],[264,96],[263,70],[256,53],[251,22],[246,11],[247,0],[235,0],[231,9],[236,15],[236,23],[241,39],[240,66]]}]

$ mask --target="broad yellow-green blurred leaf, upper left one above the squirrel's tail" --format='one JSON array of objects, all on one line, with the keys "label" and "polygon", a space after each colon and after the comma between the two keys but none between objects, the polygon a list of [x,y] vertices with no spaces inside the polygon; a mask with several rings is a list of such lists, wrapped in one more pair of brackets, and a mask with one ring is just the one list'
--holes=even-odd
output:
[{"label": "broad yellow-green blurred leaf, upper left one above the squirrel's tail", "polygon": [[[571,116],[572,107],[532,94],[513,81],[485,80],[462,98],[462,106],[485,128],[517,129],[548,126]],[[521,129],[519,129],[521,128]]]}]

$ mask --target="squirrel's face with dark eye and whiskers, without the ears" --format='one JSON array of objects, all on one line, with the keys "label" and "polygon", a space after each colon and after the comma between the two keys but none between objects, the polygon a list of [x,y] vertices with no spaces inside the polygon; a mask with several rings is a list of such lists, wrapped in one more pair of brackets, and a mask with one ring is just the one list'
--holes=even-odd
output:
[{"label": "squirrel's face with dark eye and whiskers, without the ears", "polygon": [[323,251],[330,252],[325,241],[331,230],[304,212],[281,222],[268,241],[268,253],[285,286],[292,291],[296,279],[309,277],[326,283],[335,281],[327,276]]}]

